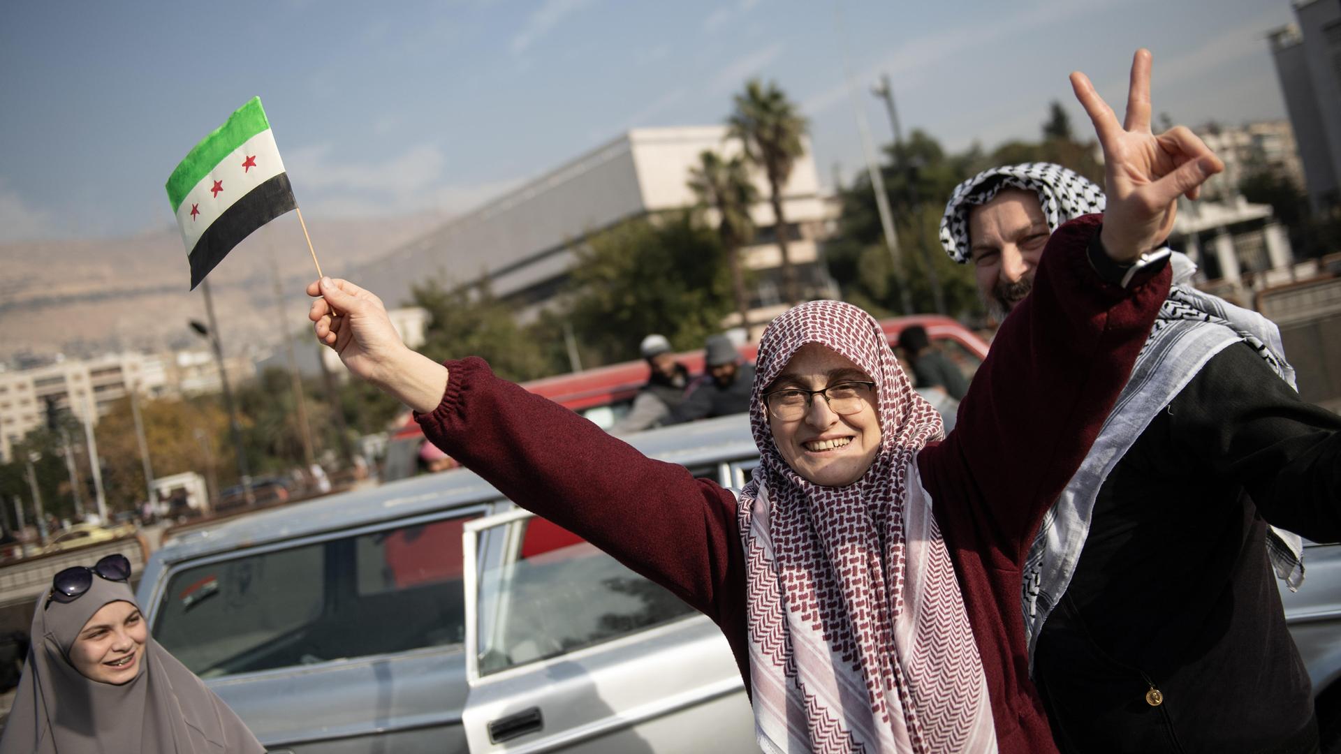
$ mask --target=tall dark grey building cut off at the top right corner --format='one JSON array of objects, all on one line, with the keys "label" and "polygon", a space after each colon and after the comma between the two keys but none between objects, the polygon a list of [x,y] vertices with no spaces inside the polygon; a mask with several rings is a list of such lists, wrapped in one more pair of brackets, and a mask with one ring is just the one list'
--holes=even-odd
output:
[{"label": "tall dark grey building cut off at the top right corner", "polygon": [[1341,3],[1295,0],[1291,24],[1269,32],[1277,76],[1316,212],[1341,201]]}]

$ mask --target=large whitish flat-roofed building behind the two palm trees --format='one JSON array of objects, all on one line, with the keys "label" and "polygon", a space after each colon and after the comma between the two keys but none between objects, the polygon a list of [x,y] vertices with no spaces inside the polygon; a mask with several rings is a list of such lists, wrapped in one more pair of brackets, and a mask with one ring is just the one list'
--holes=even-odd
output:
[{"label": "large whitish flat-roofed building behind the two palm trees", "polygon": [[[689,169],[707,149],[731,157],[740,144],[727,138],[725,126],[630,130],[406,244],[359,271],[358,279],[393,306],[426,276],[461,284],[487,279],[496,297],[535,314],[562,291],[573,250],[583,239],[624,220],[693,205]],[[756,182],[763,201],[751,215],[759,235],[744,250],[744,262],[755,271],[751,305],[766,318],[784,302],[779,252],[771,243],[776,221],[763,176]],[[797,160],[783,195],[798,278],[809,294],[829,295],[817,246],[826,215],[809,150]]]}]

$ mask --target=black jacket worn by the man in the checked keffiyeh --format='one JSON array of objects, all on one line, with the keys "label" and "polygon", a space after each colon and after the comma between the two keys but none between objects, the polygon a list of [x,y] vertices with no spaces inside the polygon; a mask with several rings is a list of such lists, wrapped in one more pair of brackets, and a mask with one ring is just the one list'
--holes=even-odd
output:
[{"label": "black jacket worn by the man in the checked keffiyeh", "polygon": [[1145,428],[1039,636],[1034,679],[1063,753],[1317,746],[1265,537],[1270,522],[1341,539],[1337,429],[1246,343]]}]

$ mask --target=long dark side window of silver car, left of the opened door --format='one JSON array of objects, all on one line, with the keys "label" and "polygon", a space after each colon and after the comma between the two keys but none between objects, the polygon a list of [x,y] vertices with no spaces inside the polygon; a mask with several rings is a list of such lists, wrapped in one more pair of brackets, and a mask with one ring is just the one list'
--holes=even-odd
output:
[{"label": "long dark side window of silver car, left of the opened door", "polygon": [[153,636],[202,678],[460,644],[464,521],[182,569]]}]

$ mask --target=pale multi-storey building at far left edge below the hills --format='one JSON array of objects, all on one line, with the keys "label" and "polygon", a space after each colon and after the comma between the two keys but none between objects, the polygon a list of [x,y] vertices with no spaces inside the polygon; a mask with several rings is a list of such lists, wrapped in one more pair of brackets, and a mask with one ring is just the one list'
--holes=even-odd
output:
[{"label": "pale multi-storey building at far left edge below the hills", "polygon": [[47,402],[78,420],[107,413],[130,389],[158,396],[168,389],[168,372],[157,356],[106,354],[87,360],[56,358],[50,364],[0,372],[0,459],[30,431],[46,423]]}]

